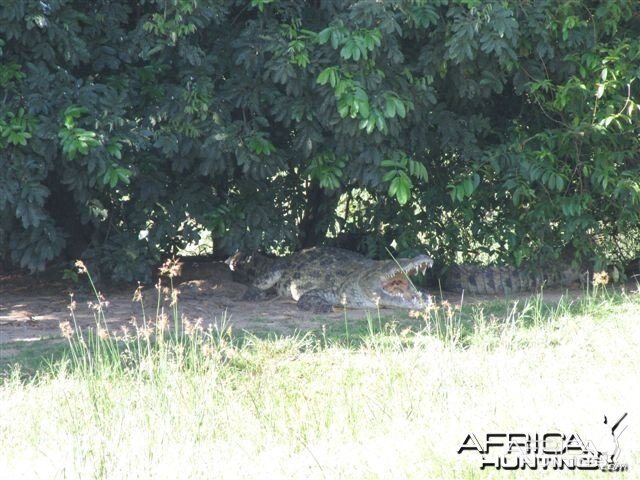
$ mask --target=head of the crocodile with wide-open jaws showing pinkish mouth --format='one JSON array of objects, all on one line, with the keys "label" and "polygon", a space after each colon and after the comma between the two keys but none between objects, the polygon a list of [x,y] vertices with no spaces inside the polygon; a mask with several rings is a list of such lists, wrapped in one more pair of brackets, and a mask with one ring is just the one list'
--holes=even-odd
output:
[{"label": "head of the crocodile with wide-open jaws showing pinkish mouth", "polygon": [[425,273],[432,266],[433,260],[426,255],[378,261],[363,271],[354,290],[368,300],[362,302],[363,306],[423,308],[429,298],[416,289],[411,277]]}]

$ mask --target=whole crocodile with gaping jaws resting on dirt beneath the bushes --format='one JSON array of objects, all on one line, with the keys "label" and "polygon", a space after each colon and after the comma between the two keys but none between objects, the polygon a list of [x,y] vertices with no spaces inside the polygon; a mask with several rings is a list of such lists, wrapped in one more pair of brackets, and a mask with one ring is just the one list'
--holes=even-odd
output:
[{"label": "whole crocodile with gaping jaws resting on dirt beneath the bushes", "polygon": [[287,257],[236,253],[227,262],[234,278],[249,284],[245,298],[275,291],[292,298],[298,308],[330,312],[349,308],[398,307],[419,309],[429,297],[410,278],[433,266],[426,255],[371,260],[349,250],[314,247]]}]

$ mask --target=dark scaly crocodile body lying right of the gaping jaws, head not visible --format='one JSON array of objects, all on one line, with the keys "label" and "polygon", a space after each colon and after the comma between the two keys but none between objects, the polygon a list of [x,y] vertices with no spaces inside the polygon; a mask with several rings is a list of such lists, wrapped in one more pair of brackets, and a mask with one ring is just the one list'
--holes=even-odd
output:
[{"label": "dark scaly crocodile body lying right of the gaping jaws, head not visible", "polygon": [[569,287],[585,280],[586,274],[570,263],[559,261],[545,268],[533,265],[452,265],[441,276],[448,291],[498,295],[532,291],[542,287]]}]

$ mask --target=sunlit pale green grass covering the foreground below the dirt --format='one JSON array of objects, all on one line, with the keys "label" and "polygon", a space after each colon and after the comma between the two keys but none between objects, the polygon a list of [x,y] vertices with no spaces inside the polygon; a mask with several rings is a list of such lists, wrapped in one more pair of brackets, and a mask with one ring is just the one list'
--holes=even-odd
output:
[{"label": "sunlit pale green grass covering the foreground below the dirt", "polygon": [[[439,308],[401,322],[373,312],[290,336],[168,320],[165,328],[152,315],[128,338],[76,329],[63,359],[6,375],[0,472],[516,478],[523,473],[482,471],[477,455],[458,455],[466,435],[560,431],[597,441],[603,415],[624,412],[620,460],[630,472],[536,478],[635,478],[640,468],[638,294]],[[108,330],[99,309],[96,322]],[[25,355],[18,360],[34,359]]]}]

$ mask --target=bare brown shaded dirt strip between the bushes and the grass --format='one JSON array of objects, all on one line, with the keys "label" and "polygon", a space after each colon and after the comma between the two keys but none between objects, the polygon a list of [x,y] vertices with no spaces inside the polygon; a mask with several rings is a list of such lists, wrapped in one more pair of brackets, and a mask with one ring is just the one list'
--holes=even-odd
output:
[{"label": "bare brown shaded dirt strip between the bushes and the grass", "polygon": [[[34,279],[0,272],[0,356],[11,354],[12,347],[6,345],[8,342],[60,337],[60,322],[70,319],[68,305],[72,291],[75,292],[78,323],[82,327],[95,325],[89,306],[95,298],[84,285],[86,279],[81,277],[80,284],[76,285],[60,278],[59,273]],[[344,321],[343,311],[318,315],[301,311],[293,301],[285,299],[243,301],[246,287],[232,280],[223,262],[188,261],[178,282],[181,313],[191,320],[201,318],[204,326],[227,318],[235,330],[291,333],[296,329],[309,330]],[[141,321],[140,304],[132,301],[134,291],[135,285],[115,285],[102,290],[109,301],[107,320],[112,330],[128,325],[132,318]],[[557,299],[563,293],[566,290],[545,291],[545,298]],[[580,291],[571,293],[577,295]],[[157,291],[153,285],[146,286],[144,298],[146,311],[155,317]],[[451,303],[460,302],[458,294],[445,295],[445,298]],[[467,297],[464,301],[468,304],[487,298]],[[168,298],[162,299],[161,308],[169,313]],[[363,310],[347,310],[349,318],[362,319],[365,315]],[[385,310],[383,315],[389,317],[395,313]],[[398,315],[406,317],[406,311],[398,312]]]}]

